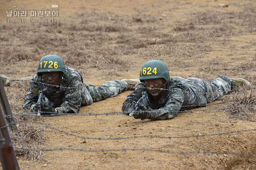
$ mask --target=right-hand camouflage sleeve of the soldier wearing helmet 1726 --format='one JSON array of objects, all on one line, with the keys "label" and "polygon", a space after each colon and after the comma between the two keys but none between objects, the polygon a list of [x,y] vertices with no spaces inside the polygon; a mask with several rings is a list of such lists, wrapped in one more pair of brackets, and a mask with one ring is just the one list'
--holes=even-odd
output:
[{"label": "right-hand camouflage sleeve of the soldier wearing helmet 1726", "polygon": [[[74,74],[74,73],[73,73]],[[65,91],[65,97],[60,107],[56,107],[59,113],[77,113],[80,110],[82,98],[82,81],[80,76],[74,76]]]}]

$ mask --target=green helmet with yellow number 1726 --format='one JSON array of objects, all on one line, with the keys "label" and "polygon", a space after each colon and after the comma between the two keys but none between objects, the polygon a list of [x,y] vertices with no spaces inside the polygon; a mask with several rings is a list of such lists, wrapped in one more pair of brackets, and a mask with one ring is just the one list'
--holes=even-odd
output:
[{"label": "green helmet with yellow number 1726", "polygon": [[45,55],[41,58],[37,68],[38,76],[41,76],[43,72],[57,71],[67,74],[65,64],[58,55]]}]

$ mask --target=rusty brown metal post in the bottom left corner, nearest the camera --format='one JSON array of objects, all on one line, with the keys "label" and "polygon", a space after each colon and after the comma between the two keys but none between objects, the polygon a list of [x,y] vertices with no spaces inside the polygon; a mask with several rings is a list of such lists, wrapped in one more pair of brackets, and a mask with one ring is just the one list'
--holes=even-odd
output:
[{"label": "rusty brown metal post in the bottom left corner, nearest the camera", "polygon": [[[1,81],[2,82],[2,81]],[[0,94],[1,95],[1,94]],[[4,114],[0,107],[0,128],[1,128],[1,142],[0,142],[0,160],[3,170],[20,170],[17,161],[12,140],[8,132],[8,126],[4,120]],[[4,141],[4,142],[3,142]]]}]

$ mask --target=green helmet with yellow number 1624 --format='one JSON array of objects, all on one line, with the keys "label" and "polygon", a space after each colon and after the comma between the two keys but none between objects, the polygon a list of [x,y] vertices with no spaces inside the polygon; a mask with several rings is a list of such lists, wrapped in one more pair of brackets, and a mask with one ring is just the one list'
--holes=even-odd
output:
[{"label": "green helmet with yellow number 1624", "polygon": [[155,78],[170,80],[169,71],[164,62],[160,60],[150,60],[144,63],[140,70],[140,82]]}]

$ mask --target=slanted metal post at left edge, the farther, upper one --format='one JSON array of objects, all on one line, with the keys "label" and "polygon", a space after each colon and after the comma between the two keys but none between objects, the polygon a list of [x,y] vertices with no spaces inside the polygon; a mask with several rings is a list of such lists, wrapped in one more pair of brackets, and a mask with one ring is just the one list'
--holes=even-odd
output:
[{"label": "slanted metal post at left edge, the farther, upper one", "polygon": [[11,131],[17,130],[17,125],[13,119],[12,109],[7,99],[7,96],[4,90],[4,85],[3,85],[3,82],[1,81],[1,78],[0,78],[0,104],[3,107],[4,115],[6,115],[5,116],[6,121],[8,124],[10,124],[10,130]]}]

